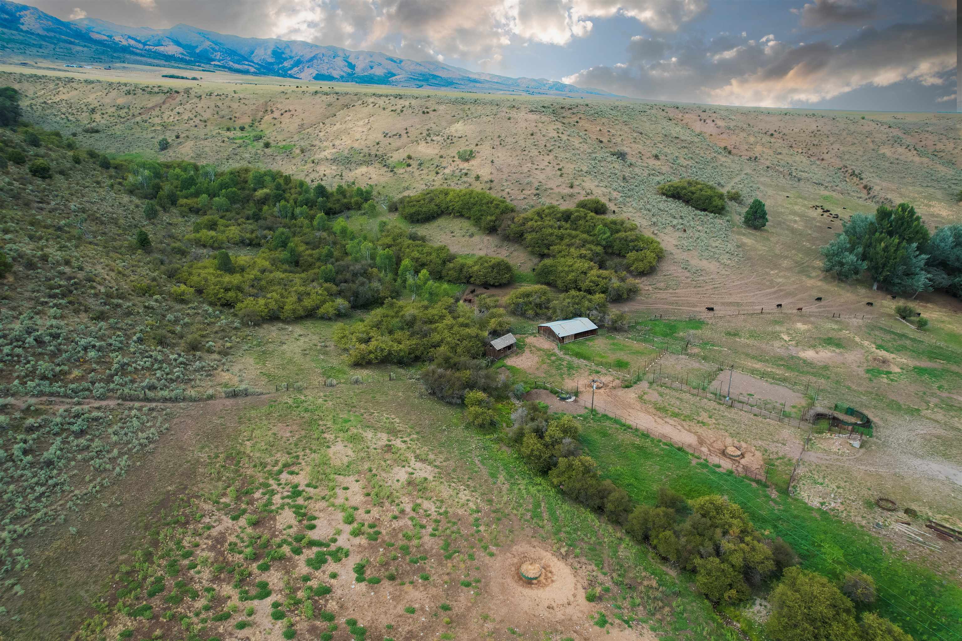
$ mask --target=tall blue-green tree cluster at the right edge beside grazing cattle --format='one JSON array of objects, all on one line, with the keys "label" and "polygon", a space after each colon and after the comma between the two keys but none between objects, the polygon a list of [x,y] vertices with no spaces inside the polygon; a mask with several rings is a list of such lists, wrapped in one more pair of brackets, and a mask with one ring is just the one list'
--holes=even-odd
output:
[{"label": "tall blue-green tree cluster at the right edge beside grazing cattle", "polygon": [[922,216],[908,203],[879,206],[875,215],[857,213],[842,234],[821,249],[823,269],[840,281],[868,271],[873,289],[893,293],[946,289],[962,295],[962,224],[929,234]]}]

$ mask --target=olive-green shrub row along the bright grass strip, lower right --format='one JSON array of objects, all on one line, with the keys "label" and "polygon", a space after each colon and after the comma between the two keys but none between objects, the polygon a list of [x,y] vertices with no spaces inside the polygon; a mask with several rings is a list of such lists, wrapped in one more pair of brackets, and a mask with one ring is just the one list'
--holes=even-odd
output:
[{"label": "olive-green shrub row along the bright grass strip, lower right", "polygon": [[715,604],[739,604],[753,590],[777,581],[766,632],[775,641],[911,641],[911,636],[873,612],[873,579],[848,573],[839,584],[797,567],[792,547],[764,537],[745,510],[708,495],[686,501],[667,487],[655,505],[633,505],[612,481],[598,476],[595,460],[582,454],[578,422],[552,417],[544,406],[526,402],[512,414],[506,439],[533,469],[572,500],[599,510],[638,541],[646,542],[677,567],[695,574],[699,592]]}]

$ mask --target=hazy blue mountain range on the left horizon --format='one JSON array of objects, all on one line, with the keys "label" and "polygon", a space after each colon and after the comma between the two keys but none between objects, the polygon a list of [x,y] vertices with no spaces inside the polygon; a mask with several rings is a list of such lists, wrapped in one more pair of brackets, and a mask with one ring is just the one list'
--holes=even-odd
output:
[{"label": "hazy blue mountain range on the left horizon", "polygon": [[418,62],[303,40],[227,36],[185,24],[151,29],[125,27],[96,18],[65,21],[29,5],[0,0],[0,58],[17,62],[17,57],[67,63],[165,64],[314,82],[614,95],[544,78],[510,78],[443,62]]}]

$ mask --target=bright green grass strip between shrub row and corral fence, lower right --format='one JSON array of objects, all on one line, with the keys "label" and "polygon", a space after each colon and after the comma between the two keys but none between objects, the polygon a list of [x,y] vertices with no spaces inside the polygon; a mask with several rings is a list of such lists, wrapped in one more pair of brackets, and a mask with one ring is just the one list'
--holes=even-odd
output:
[{"label": "bright green grass strip between shrub row and corral fence, lower right", "polygon": [[756,529],[790,543],[803,567],[835,580],[853,567],[872,576],[878,586],[879,614],[916,639],[962,639],[962,589],[907,560],[873,533],[795,497],[772,497],[764,485],[705,461],[693,463],[688,452],[610,417],[583,420],[581,440],[601,476],[623,487],[638,503],[653,503],[662,483],[688,499],[726,496],[745,508]]}]

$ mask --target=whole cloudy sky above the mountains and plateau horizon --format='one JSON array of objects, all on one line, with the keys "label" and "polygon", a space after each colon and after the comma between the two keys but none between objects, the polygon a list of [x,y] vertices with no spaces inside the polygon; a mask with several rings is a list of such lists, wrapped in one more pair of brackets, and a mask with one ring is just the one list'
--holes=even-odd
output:
[{"label": "whole cloudy sky above the mountains and plateau horizon", "polygon": [[[28,0],[29,2],[29,0]],[[683,102],[960,111],[957,0],[34,0]]]}]

